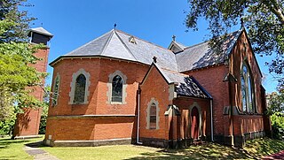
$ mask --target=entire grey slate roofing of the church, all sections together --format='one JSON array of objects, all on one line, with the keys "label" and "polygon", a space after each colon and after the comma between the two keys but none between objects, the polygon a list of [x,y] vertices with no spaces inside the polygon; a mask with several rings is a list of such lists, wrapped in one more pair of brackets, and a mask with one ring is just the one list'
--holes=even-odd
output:
[{"label": "entire grey slate roofing of the church, all sections together", "polygon": [[[180,72],[224,63],[241,32],[242,30],[226,35],[225,41],[222,43],[222,52],[210,49],[209,42],[202,42],[191,47],[185,47],[179,42],[174,42],[175,45],[183,49],[175,54],[171,50],[164,49],[154,43],[113,29],[67,53],[67,55],[58,57],[50,65],[53,65],[62,57],[112,57],[151,65],[153,64],[153,57],[157,57],[157,62],[154,65],[169,84],[177,84],[177,95],[211,98],[206,90],[198,84],[197,80]],[[130,41],[132,38],[134,38],[134,42]]]}]

